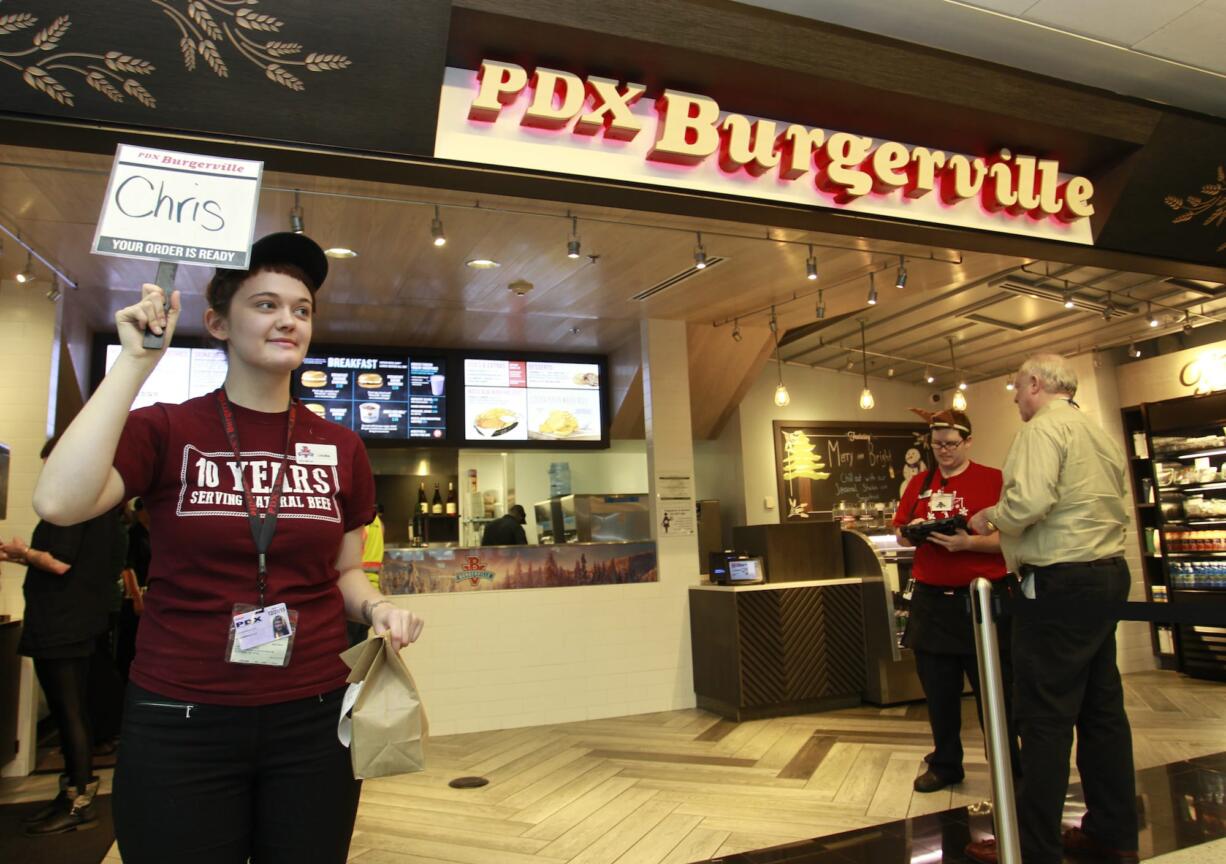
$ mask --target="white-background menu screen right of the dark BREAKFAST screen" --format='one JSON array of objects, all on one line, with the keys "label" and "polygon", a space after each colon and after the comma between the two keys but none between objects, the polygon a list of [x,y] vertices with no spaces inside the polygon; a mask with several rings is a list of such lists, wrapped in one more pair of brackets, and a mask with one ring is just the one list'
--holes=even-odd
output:
[{"label": "white-background menu screen right of the dark BREAKFAST screen", "polygon": [[601,366],[586,362],[463,362],[466,441],[600,441]]}]

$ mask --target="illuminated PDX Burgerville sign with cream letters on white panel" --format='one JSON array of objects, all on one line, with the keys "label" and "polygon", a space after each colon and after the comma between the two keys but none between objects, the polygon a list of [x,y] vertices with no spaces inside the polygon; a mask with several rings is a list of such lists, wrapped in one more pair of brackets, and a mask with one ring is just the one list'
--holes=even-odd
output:
[{"label": "illuminated PDX Burgerville sign with cream letters on white panel", "polygon": [[951,153],[720,109],[696,93],[483,60],[449,67],[435,157],[1092,244],[1056,159]]}]

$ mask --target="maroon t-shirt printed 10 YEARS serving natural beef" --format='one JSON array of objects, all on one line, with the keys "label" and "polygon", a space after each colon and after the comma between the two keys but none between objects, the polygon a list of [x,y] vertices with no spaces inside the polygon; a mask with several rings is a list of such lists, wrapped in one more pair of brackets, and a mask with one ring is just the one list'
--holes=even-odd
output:
[{"label": "maroon t-shirt printed 10 YEARS serving natural beef", "polygon": [[[298,613],[287,667],[229,663],[235,603],[257,603],[256,551],[242,477],[261,512],[286,447],[287,413],[230,403],[242,466],[226,438],[217,393],[134,411],[115,468],[124,496],[150,513],[153,558],[131,680],[172,699],[270,705],[342,686],[348,669],[336,558],[346,532],[374,517],[374,478],[362,440],[294,404],[294,438],[268,547],[267,604]],[[298,464],[297,444],[336,446],[336,464]],[[316,460],[318,461],[318,460]]]}]

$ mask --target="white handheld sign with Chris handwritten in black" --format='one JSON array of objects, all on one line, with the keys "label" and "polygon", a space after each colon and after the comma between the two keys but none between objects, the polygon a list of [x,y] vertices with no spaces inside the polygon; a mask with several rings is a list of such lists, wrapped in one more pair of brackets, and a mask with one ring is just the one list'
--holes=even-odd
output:
[{"label": "white handheld sign with Chris handwritten in black", "polygon": [[93,251],[245,270],[262,162],[119,145]]}]

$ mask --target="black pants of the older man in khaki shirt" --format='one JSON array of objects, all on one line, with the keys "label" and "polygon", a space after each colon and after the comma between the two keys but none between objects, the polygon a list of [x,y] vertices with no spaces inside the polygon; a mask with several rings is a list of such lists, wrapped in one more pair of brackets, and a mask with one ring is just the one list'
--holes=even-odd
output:
[{"label": "black pants of the older man in khaki shirt", "polygon": [[1116,665],[1116,619],[1095,615],[1128,599],[1128,565],[1035,572],[1037,599],[1076,615],[1025,616],[1013,629],[1014,706],[1026,772],[1018,798],[1025,864],[1058,864],[1060,819],[1076,728],[1076,766],[1086,814],[1083,830],[1116,849],[1137,848],[1133,737]]}]

